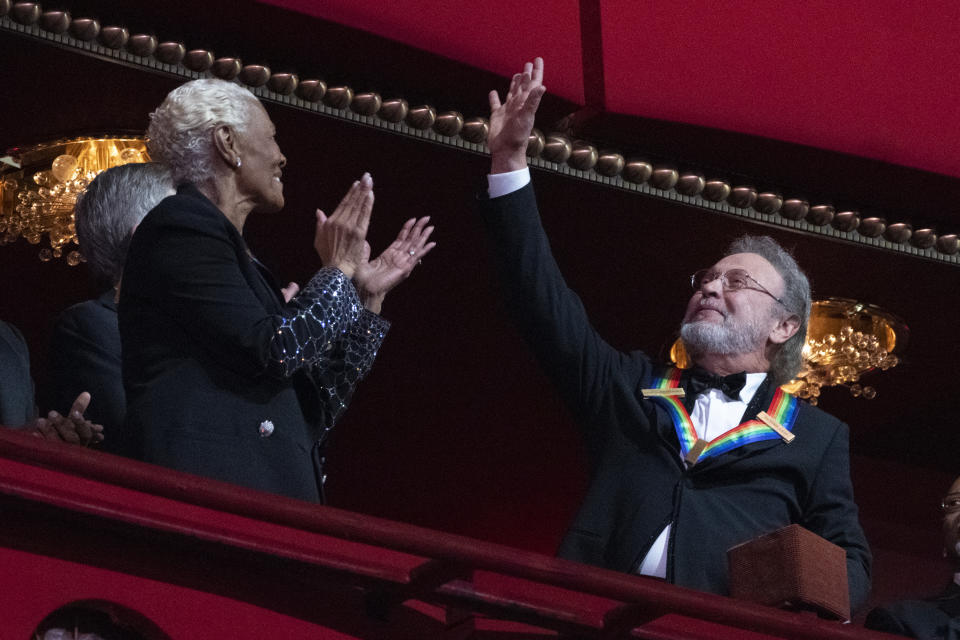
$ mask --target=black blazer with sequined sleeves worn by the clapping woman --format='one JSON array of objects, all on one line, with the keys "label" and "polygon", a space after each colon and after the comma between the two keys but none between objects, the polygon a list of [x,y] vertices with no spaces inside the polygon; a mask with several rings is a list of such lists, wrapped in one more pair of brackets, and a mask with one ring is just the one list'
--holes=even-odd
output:
[{"label": "black blazer with sequined sleeves worn by the clapping woman", "polygon": [[322,500],[322,450],[388,324],[321,269],[285,304],[236,228],[193,185],[137,227],[120,336],[126,454]]}]

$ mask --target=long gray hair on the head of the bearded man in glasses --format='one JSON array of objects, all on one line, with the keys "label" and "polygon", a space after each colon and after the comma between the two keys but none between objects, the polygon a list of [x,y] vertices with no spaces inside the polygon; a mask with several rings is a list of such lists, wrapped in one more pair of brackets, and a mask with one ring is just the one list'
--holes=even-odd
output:
[{"label": "long gray hair on the head of the bearded man in glasses", "polygon": [[790,253],[769,236],[741,236],[734,240],[725,256],[735,253],[755,253],[773,265],[783,278],[783,306],[789,314],[800,319],[800,328],[784,342],[770,363],[770,377],[776,385],[789,382],[803,368],[803,345],[807,341],[807,322],[810,319],[810,281],[800,270]]}]

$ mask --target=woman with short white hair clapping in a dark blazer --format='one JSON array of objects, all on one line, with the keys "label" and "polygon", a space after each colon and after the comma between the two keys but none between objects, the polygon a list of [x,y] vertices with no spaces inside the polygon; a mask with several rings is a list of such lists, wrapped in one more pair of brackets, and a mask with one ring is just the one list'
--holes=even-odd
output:
[{"label": "woman with short white hair clapping in a dark blazer", "polygon": [[137,228],[124,268],[123,449],[322,501],[326,438],[387,332],[384,296],[433,248],[433,227],[407,221],[371,261],[364,174],[329,218],[317,211],[324,266],[294,295],[241,235],[249,214],[284,204],[286,158],[259,101],[236,84],[194,80],[170,92],[147,133],[178,188]]}]

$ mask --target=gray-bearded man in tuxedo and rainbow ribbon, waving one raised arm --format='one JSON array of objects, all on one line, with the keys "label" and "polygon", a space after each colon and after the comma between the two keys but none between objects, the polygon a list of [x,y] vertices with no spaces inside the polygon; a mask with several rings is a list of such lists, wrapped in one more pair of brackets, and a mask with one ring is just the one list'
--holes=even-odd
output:
[{"label": "gray-bearded man in tuxedo and rainbow ribbon, waving one raised arm", "polygon": [[540,225],[526,146],[543,61],[490,94],[483,222],[507,307],[581,425],[587,496],[565,558],[726,594],[726,550],[800,524],[846,552],[851,608],[870,589],[848,429],[780,385],[800,369],[810,285],[789,253],[746,236],[690,278],[681,336],[694,366],[622,353],[590,325]]}]

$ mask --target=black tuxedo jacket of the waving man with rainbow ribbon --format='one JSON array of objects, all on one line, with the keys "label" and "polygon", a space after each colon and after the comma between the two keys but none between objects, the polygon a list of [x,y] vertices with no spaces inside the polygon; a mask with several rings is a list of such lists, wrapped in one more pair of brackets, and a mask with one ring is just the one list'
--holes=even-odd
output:
[{"label": "black tuxedo jacket of the waving man with rainbow ribbon", "polygon": [[[792,443],[749,444],[685,468],[669,416],[640,392],[661,369],[591,327],[551,255],[532,187],[481,202],[507,307],[582,426],[593,464],[559,554],[633,572],[673,523],[667,579],[726,594],[727,549],[799,523],[846,551],[851,605],[862,604],[870,553],[853,502],[847,427],[801,403]],[[772,393],[760,400],[764,409]]]}]

